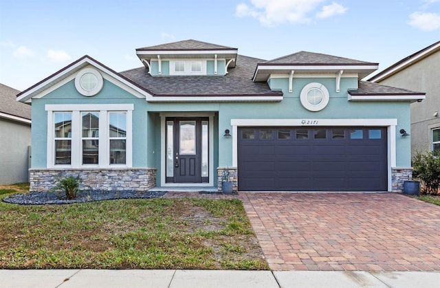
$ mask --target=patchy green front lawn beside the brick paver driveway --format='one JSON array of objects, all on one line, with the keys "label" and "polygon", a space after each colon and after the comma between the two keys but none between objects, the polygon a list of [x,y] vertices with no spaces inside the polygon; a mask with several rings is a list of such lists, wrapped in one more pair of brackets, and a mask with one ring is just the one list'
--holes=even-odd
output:
[{"label": "patchy green front lawn beside the brick paver driveway", "polygon": [[0,202],[0,247],[0,269],[268,269],[238,199]]}]

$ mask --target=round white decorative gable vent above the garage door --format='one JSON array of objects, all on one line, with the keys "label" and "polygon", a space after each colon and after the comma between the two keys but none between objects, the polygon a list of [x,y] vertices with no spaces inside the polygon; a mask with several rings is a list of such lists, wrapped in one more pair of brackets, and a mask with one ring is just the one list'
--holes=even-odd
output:
[{"label": "round white decorative gable vent above the garage door", "polygon": [[300,100],[303,107],[309,111],[321,111],[329,104],[329,90],[317,82],[305,85],[300,93]]}]

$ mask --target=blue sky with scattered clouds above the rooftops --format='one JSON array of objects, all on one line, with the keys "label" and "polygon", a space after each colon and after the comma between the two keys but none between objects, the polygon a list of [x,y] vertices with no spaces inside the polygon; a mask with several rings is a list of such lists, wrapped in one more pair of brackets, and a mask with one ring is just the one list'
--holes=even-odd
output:
[{"label": "blue sky with scattered clouds above the rooftops", "polygon": [[440,0],[2,0],[0,83],[27,89],[86,54],[124,71],[142,66],[136,48],[186,39],[381,70],[440,40]]}]

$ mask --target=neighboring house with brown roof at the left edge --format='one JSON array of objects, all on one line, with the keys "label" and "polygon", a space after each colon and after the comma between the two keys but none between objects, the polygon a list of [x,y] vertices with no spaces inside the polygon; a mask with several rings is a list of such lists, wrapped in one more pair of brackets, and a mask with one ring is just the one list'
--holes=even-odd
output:
[{"label": "neighboring house with brown roof at the left edge", "polygon": [[0,84],[0,185],[29,181],[31,107],[19,92]]}]

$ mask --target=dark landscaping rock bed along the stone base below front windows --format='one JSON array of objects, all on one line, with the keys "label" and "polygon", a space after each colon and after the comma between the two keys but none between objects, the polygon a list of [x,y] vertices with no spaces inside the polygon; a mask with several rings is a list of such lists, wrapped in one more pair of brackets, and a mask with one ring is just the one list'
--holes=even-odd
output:
[{"label": "dark landscaping rock bed along the stone base below front windows", "polygon": [[4,197],[6,203],[21,205],[45,205],[45,204],[69,204],[89,201],[102,201],[113,199],[140,199],[140,198],[159,198],[166,194],[163,191],[104,191],[104,190],[83,190],[78,192],[76,199],[67,200],[64,192],[29,192],[19,193]]}]

